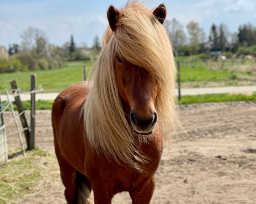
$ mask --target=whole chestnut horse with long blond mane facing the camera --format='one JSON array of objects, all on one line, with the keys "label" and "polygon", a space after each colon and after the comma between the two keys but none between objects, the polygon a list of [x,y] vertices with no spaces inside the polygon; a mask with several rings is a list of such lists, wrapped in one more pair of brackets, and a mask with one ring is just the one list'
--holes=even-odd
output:
[{"label": "whole chestnut horse with long blond mane facing the camera", "polygon": [[133,204],[148,204],[163,135],[176,120],[166,7],[134,1],[110,6],[107,17],[93,83],[71,85],[52,107],[64,195],[68,204],[111,204],[128,191]]}]

